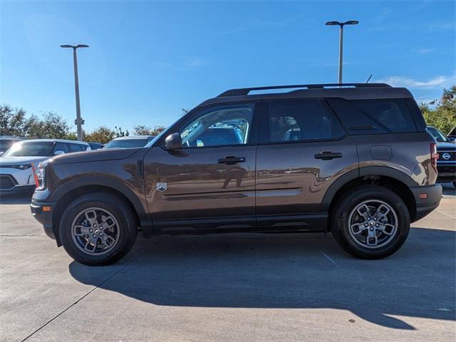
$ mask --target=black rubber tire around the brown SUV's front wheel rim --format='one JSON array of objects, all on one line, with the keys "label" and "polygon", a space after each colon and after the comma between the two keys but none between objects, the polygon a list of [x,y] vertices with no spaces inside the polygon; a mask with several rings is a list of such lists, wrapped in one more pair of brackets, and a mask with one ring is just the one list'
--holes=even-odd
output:
[{"label": "black rubber tire around the brown SUV's front wheel rim", "polygon": [[[110,212],[117,221],[116,223],[118,223],[117,229],[120,233],[115,245],[101,255],[83,252],[78,247],[77,242],[74,241],[72,234],[74,220],[84,209],[94,207]],[[113,264],[125,256],[135,244],[136,235],[138,234],[138,219],[123,199],[105,192],[93,192],[78,197],[68,205],[61,217],[59,234],[63,248],[73,259],[81,264],[92,266]]]}]

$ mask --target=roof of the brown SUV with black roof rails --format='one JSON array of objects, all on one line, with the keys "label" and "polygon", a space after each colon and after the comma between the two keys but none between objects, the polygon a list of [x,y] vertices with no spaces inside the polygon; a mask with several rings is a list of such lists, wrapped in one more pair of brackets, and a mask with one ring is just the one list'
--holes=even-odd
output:
[{"label": "roof of the brown SUV with black roof rails", "polygon": [[[249,95],[252,91],[280,89],[291,90],[285,93]],[[406,88],[395,88],[385,83],[300,84],[230,89],[224,91],[216,98],[204,101],[200,106],[247,100],[279,100],[281,98],[346,98],[348,100],[363,100],[375,98],[413,98],[413,95]]]}]

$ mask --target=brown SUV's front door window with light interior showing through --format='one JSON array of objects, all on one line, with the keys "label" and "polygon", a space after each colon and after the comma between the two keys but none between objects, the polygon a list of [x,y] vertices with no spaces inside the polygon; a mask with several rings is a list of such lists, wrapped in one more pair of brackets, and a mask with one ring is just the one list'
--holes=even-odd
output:
[{"label": "brown SUV's front door window with light interior showing through", "polygon": [[181,130],[184,148],[247,144],[254,104],[219,105],[199,113]]}]

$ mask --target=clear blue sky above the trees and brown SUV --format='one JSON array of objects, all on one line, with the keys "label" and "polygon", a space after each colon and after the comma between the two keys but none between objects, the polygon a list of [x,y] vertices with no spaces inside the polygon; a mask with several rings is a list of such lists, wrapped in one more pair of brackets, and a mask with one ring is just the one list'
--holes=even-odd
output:
[{"label": "clear blue sky above the trees and brown SUV", "polygon": [[85,129],[169,125],[227,88],[337,81],[407,86],[418,101],[456,83],[455,1],[1,1],[0,103]]}]

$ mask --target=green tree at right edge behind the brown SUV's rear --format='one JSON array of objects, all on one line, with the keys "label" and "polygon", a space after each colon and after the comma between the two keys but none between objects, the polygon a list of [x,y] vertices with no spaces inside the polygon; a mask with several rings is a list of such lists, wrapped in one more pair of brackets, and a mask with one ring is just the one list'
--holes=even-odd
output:
[{"label": "green tree at right edge behind the brown SUV's rear", "polygon": [[440,100],[432,101],[434,106],[420,104],[426,124],[447,134],[456,126],[456,86],[444,89]]}]

